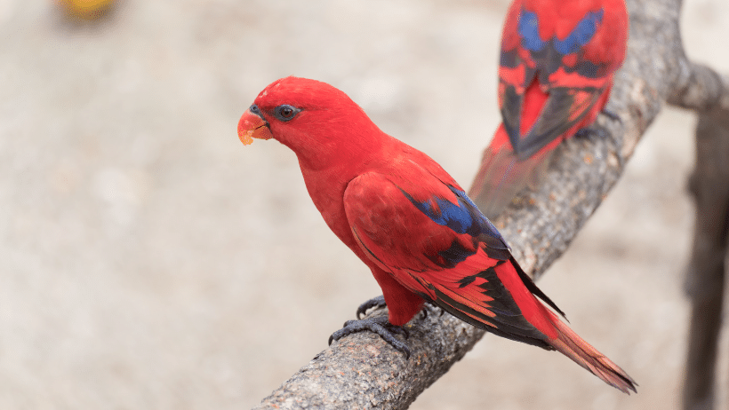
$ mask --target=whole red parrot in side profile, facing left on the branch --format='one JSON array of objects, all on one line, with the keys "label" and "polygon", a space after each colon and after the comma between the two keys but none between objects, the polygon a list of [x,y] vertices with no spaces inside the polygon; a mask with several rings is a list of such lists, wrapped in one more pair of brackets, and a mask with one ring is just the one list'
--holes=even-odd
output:
[{"label": "whole red parrot in side profile, facing left on the branch", "polygon": [[[438,164],[382,132],[347,94],[286,77],[260,92],[238,122],[245,145],[274,138],[299,159],[308,193],[332,231],[372,270],[389,317],[350,320],[330,338],[372,330],[405,355],[394,333],[424,301],[519,342],[557,350],[626,393],[635,382],[549,310],[563,314]],[[541,301],[540,301],[541,299]]]}]

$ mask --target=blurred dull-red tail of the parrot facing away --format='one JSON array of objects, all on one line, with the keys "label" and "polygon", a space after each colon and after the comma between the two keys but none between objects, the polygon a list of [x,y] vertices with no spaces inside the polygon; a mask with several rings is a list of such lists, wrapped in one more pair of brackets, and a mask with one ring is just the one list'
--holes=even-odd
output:
[{"label": "blurred dull-red tail of the parrot facing away", "polygon": [[484,151],[469,197],[486,217],[498,217],[519,191],[538,181],[540,164],[547,162],[546,157],[538,153],[520,161],[501,124]]}]

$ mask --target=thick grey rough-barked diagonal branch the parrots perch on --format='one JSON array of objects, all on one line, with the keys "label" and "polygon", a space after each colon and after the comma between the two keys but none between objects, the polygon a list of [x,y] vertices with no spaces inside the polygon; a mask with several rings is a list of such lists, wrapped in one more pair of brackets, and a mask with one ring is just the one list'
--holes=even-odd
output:
[{"label": "thick grey rough-barked diagonal branch the parrots perch on", "polygon": [[[621,176],[662,101],[692,109],[727,106],[725,78],[685,59],[680,5],[628,1],[629,51],[608,104],[621,121],[601,116],[599,136],[563,144],[539,190],[493,221],[535,278],[565,252]],[[408,327],[409,360],[377,335],[351,335],[316,355],[256,408],[406,408],[484,335],[437,308],[425,311]]]}]

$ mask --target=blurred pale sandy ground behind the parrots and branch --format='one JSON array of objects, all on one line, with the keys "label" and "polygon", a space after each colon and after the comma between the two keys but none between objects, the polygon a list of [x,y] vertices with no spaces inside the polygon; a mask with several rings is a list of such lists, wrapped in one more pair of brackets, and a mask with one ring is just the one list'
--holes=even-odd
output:
[{"label": "blurred pale sandy ground behind the parrots and branch", "polygon": [[[380,293],[293,154],[236,138],[278,77],[335,84],[470,183],[505,0],[201,3],[127,0],[90,27],[0,0],[2,409],[248,408]],[[684,28],[729,72],[729,4],[686,1]],[[677,407],[693,122],[661,115],[540,282],[639,394],[488,336],[413,409]]]}]

